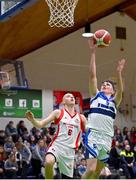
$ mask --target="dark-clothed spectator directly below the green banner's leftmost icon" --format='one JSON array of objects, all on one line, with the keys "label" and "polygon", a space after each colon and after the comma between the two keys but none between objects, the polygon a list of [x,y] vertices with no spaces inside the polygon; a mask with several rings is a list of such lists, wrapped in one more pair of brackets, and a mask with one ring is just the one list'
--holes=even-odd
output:
[{"label": "dark-clothed spectator directly below the green banner's leftmost icon", "polygon": [[5,127],[5,134],[6,136],[12,136],[13,142],[17,141],[17,129],[14,127],[14,122],[9,121],[9,123]]}]

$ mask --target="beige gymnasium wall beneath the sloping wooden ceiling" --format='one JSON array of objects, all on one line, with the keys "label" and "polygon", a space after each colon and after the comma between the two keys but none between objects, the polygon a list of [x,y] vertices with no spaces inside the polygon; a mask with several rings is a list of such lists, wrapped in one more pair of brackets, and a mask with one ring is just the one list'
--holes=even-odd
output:
[{"label": "beige gymnasium wall beneath the sloping wooden ceiling", "polygon": [[[116,39],[116,26],[126,27],[126,40]],[[102,28],[112,34],[112,42],[108,48],[97,49],[98,86],[104,79],[116,80],[117,62],[121,58],[126,58],[123,100],[115,123],[120,128],[124,126],[130,128],[136,124],[136,99],[132,104],[132,97],[136,96],[136,23],[127,15],[114,13],[91,24],[92,32]],[[43,116],[52,111],[53,90],[80,91],[83,98],[89,97],[90,51],[87,39],[81,36],[83,32],[82,28],[19,58],[24,62],[29,86],[32,89],[44,89]],[[124,50],[122,51],[121,48]],[[0,119],[1,122],[3,119]],[[15,122],[18,122],[18,119],[15,119]],[[31,126],[29,122],[26,123]],[[1,123],[1,127],[3,126]]]}]

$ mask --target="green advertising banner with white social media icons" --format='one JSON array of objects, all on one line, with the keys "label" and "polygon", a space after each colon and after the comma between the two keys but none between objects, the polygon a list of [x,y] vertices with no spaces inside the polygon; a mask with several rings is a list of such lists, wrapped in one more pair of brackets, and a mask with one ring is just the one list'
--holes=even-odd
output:
[{"label": "green advertising banner with white social media icons", "polygon": [[30,110],[36,118],[42,117],[41,90],[1,90],[0,117],[24,118]]}]

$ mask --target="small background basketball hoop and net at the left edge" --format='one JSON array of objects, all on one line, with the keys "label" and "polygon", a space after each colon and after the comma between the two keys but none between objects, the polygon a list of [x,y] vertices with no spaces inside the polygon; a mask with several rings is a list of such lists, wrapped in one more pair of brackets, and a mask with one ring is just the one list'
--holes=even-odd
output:
[{"label": "small background basketball hoop and net at the left edge", "polygon": [[10,79],[8,72],[0,71],[0,88],[1,89],[10,88]]}]

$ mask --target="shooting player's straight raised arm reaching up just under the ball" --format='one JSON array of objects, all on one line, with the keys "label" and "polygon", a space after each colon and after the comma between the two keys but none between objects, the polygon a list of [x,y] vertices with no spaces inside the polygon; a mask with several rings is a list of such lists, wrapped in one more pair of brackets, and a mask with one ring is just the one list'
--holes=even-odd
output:
[{"label": "shooting player's straight raised arm reaching up just under the ball", "polygon": [[89,66],[89,91],[91,96],[97,93],[97,77],[96,77],[96,62],[95,62],[95,45],[93,38],[89,39],[89,47],[91,50],[91,60]]}]

